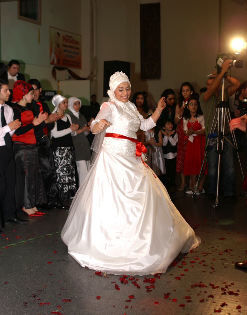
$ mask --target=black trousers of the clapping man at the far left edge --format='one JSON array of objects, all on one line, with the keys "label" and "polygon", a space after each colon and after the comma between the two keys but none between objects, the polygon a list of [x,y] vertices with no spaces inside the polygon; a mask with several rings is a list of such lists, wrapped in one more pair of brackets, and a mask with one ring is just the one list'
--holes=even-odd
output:
[{"label": "black trousers of the clapping man at the far left edge", "polygon": [[12,148],[0,146],[0,227],[15,216],[15,162]]}]

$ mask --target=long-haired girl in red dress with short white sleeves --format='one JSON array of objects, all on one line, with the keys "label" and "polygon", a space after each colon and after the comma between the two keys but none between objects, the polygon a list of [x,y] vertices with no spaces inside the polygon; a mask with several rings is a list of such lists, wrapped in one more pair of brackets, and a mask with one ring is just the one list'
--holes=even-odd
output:
[{"label": "long-haired girl in red dress with short white sleeves", "polygon": [[[188,99],[188,103],[184,110],[183,127],[184,135],[188,137],[183,174],[190,175],[192,186],[189,187],[189,190],[187,190],[186,193],[191,194],[193,187],[197,182],[197,175],[200,173],[205,147],[205,123],[203,112],[201,110],[200,102],[193,95]],[[207,174],[207,169],[204,174]],[[204,181],[205,175],[199,182],[199,192],[197,194],[204,193]]]}]

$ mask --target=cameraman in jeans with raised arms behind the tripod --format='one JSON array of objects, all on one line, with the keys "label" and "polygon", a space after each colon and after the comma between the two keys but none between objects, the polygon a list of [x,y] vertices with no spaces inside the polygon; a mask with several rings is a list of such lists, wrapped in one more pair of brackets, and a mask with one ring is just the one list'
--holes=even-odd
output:
[{"label": "cameraman in jeans with raised arms behind the tripod", "polygon": [[[216,110],[216,105],[221,101],[222,90],[221,82],[225,73],[228,70],[231,60],[227,59],[222,63],[222,70],[219,74],[216,71],[212,72],[214,77],[210,77],[207,80],[207,91],[200,96],[201,108],[203,111],[205,125],[207,133],[210,132],[211,126],[214,120],[214,114]],[[240,86],[240,82],[233,77],[226,76],[226,81],[229,82],[227,88],[224,89],[224,100],[228,100],[229,96],[233,95]],[[214,133],[214,130],[212,130]],[[226,122],[225,135],[232,142],[232,137],[230,134],[230,129],[228,123]],[[213,138],[214,141],[214,138]],[[219,155],[216,152],[216,143],[208,154],[208,175],[209,175],[209,189],[210,195],[215,196],[217,192],[217,169],[218,169],[218,158]],[[221,154],[221,160],[223,163],[222,167],[222,183],[224,183],[224,194],[225,196],[232,197],[230,200],[238,201],[235,195],[235,166],[233,158],[233,146],[224,140],[223,153]]]}]

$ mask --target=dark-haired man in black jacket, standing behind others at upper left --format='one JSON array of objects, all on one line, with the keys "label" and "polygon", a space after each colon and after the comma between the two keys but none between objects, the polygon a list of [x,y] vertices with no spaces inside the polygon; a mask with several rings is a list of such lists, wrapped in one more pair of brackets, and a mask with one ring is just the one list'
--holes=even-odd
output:
[{"label": "dark-haired man in black jacket, standing behind others at upper left", "polygon": [[18,60],[12,59],[9,61],[7,71],[4,71],[3,74],[1,75],[1,79],[9,81],[9,91],[10,91],[10,96],[9,96],[9,101],[6,102],[9,106],[12,105],[12,89],[14,86],[14,83],[17,80],[22,80],[25,81],[25,76],[22,73],[19,73],[20,70],[20,62]]}]

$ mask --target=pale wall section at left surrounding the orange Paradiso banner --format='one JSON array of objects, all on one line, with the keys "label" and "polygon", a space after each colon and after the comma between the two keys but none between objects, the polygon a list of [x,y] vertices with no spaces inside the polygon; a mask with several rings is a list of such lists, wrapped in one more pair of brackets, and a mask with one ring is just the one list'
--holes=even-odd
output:
[{"label": "pale wall section at left surrounding the orange Paradiso banner", "polygon": [[1,60],[5,63],[19,60],[20,72],[25,74],[26,80],[37,78],[44,89],[57,90],[57,81],[51,74],[53,66],[49,64],[49,27],[82,35],[82,69],[72,68],[72,71],[87,77],[90,73],[90,1],[41,3],[41,25],[36,25],[17,19],[17,1],[1,2]]}]

